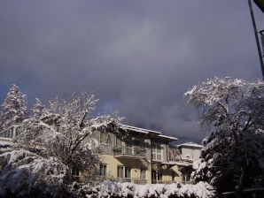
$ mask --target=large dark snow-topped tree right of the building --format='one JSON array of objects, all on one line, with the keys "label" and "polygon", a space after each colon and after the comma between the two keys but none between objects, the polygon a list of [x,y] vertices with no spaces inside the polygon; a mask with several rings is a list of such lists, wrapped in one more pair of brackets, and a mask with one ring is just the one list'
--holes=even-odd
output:
[{"label": "large dark snow-topped tree right of the building", "polygon": [[218,192],[263,185],[264,82],[214,78],[185,93],[212,132],[192,176]]}]

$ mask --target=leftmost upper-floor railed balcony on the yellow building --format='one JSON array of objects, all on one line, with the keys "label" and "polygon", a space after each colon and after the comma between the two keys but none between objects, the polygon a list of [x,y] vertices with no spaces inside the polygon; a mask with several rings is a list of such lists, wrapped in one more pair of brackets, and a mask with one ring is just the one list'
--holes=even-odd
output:
[{"label": "leftmost upper-floor railed balcony on the yellow building", "polygon": [[113,155],[115,157],[122,157],[122,158],[145,158],[146,157],[146,150],[145,148],[140,147],[116,147],[113,148]]}]

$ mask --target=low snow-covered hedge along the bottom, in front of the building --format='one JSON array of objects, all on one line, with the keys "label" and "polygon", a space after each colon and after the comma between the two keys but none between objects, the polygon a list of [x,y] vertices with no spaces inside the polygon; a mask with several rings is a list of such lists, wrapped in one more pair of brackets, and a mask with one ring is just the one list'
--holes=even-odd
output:
[{"label": "low snow-covered hedge along the bottom, in front of the building", "polygon": [[83,196],[95,197],[134,197],[134,198],[213,198],[214,188],[206,182],[196,185],[151,184],[136,185],[131,183],[114,183],[105,181],[96,187],[82,187]]}]

